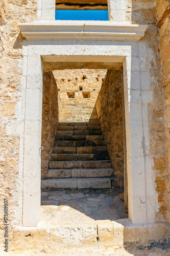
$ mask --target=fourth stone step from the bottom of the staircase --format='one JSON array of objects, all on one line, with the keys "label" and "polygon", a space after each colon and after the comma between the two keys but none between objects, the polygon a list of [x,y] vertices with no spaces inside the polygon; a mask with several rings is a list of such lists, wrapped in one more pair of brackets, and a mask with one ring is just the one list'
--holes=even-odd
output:
[{"label": "fourth stone step from the bottom of the staircase", "polygon": [[84,153],[84,154],[51,154],[51,161],[68,161],[68,160],[108,160],[109,154],[108,153],[100,153],[100,154],[93,154],[93,153]]}]

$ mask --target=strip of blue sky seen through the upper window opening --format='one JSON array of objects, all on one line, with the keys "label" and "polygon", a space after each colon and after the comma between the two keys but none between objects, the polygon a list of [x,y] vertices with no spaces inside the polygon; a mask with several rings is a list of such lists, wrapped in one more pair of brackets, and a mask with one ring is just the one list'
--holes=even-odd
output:
[{"label": "strip of blue sky seen through the upper window opening", "polygon": [[109,20],[108,11],[57,10],[56,20]]}]

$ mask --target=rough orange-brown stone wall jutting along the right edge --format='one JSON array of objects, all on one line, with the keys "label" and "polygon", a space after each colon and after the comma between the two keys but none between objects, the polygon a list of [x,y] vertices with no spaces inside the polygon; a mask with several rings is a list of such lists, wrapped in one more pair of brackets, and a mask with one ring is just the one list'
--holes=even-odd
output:
[{"label": "rough orange-brown stone wall jutting along the right edge", "polygon": [[[170,117],[170,2],[169,0],[157,0],[157,25],[159,52],[162,66],[162,87],[164,92],[164,113],[157,113],[157,118],[162,117],[165,121],[164,144],[165,152],[159,158],[154,158],[154,167],[157,173],[157,193],[160,211],[163,217],[170,221],[169,212],[169,173],[170,173],[170,136],[169,136],[169,117]],[[160,140],[160,143],[164,140]],[[163,144],[163,143],[162,143]]]}]

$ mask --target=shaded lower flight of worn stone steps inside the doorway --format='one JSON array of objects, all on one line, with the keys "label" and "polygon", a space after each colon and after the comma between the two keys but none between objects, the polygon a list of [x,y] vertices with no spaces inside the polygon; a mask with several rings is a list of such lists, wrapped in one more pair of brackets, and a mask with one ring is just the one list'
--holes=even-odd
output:
[{"label": "shaded lower flight of worn stone steps inside the doorway", "polygon": [[99,119],[59,123],[42,189],[110,188],[112,174]]}]

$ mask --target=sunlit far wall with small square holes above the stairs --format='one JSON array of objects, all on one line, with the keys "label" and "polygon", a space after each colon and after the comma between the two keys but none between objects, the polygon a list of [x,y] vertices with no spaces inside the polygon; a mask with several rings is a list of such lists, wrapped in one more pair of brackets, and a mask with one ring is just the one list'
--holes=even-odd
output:
[{"label": "sunlit far wall with small square holes above the stairs", "polygon": [[[95,102],[107,70],[67,69],[55,70],[57,87],[63,103]],[[80,90],[81,87],[81,90]],[[75,92],[75,98],[68,98],[67,92]],[[82,92],[90,92],[90,98],[83,98]]]}]

